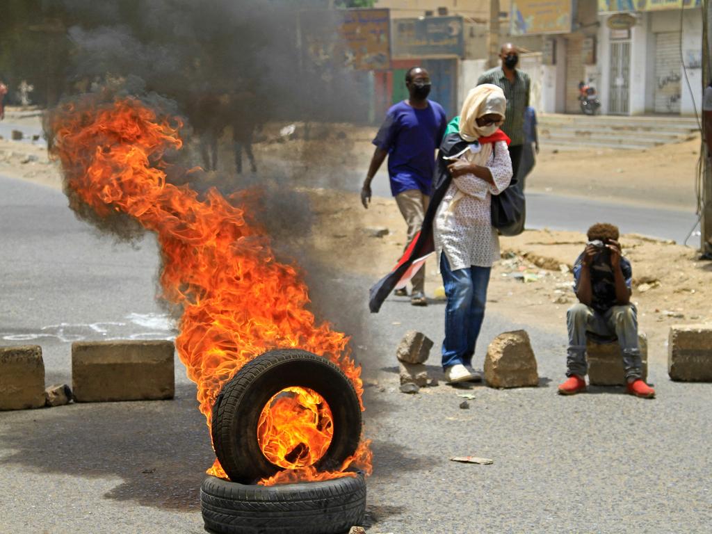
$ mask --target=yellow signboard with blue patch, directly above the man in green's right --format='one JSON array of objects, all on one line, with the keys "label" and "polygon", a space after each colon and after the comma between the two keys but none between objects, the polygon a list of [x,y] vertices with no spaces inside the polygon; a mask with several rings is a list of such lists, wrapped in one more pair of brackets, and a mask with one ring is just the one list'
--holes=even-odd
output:
[{"label": "yellow signboard with blue patch, directly above the man in green's right", "polygon": [[571,0],[513,0],[512,35],[571,32]]}]

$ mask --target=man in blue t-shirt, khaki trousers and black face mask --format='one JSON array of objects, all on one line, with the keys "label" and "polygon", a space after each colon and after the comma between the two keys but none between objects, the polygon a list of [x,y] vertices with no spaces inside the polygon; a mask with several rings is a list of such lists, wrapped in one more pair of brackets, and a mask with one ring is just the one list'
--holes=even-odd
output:
[{"label": "man in blue t-shirt, khaki trousers and black face mask", "polygon": [[[371,182],[383,160],[388,156],[388,175],[391,192],[408,225],[408,243],[420,230],[430,199],[435,170],[435,150],[447,127],[445,110],[439,103],[428,100],[430,75],[422,67],[413,67],[405,75],[409,98],[393,105],[386,115],[373,144],[376,150],[368,167],[361,189],[365,208],[371,201]],[[412,305],[427,305],[425,300],[425,268],[411,280]],[[397,295],[407,295],[397,290]]]}]

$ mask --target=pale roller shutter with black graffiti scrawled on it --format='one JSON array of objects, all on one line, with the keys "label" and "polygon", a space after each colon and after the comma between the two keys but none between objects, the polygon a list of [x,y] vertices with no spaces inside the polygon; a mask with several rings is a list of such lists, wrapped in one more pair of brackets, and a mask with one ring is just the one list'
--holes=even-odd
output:
[{"label": "pale roller shutter with black graffiti scrawled on it", "polygon": [[680,32],[655,34],[655,112],[679,113],[682,84],[680,75]]}]

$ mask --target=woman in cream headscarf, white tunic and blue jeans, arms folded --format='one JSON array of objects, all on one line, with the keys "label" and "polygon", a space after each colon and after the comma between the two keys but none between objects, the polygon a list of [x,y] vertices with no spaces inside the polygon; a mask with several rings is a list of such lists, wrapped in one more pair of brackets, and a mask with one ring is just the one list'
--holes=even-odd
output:
[{"label": "woman in cream headscarf, white tunic and blue jeans, arms folded", "polygon": [[459,123],[454,120],[449,128],[454,134],[458,127],[456,133],[466,143],[457,142],[459,152],[446,157],[452,161],[447,167],[452,180],[433,222],[447,296],[442,347],[447,382],[482,379],[471,363],[484,318],[491,267],[499,258],[491,199],[503,192],[512,178],[509,138],[499,130],[506,104],[501,88],[478,85],[468,93]]}]

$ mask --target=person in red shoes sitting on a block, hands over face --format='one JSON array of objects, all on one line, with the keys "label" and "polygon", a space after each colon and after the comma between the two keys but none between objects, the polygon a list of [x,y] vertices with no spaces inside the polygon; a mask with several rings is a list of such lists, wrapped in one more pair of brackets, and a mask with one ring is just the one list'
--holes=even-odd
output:
[{"label": "person in red shoes sitting on a block, hands over face", "polygon": [[652,398],[655,390],[642,379],[638,315],[630,301],[632,268],[622,256],[618,229],[612,224],[594,224],[587,236],[586,248],[574,263],[574,290],[579,303],[566,314],[569,378],[560,384],[559,393],[585,391],[586,340],[587,336],[594,336],[620,345],[628,393]]}]

